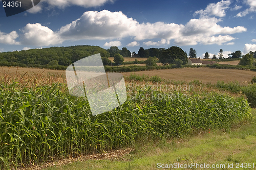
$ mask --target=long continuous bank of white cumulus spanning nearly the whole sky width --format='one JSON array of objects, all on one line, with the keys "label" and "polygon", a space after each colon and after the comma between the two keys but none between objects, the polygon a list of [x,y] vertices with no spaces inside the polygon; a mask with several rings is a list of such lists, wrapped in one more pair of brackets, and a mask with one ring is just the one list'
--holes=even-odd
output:
[{"label": "long continuous bank of white cumulus spanning nearly the whole sky width", "polygon": [[[226,3],[229,1],[222,1]],[[217,3],[218,4],[218,3]],[[87,11],[58,31],[53,31],[40,23],[28,23],[20,30],[20,42],[25,45],[48,46],[60,44],[66,40],[110,40],[104,45],[119,44],[121,38],[130,37],[134,41],[127,46],[138,46],[140,40],[146,40],[145,45],[169,44],[174,40],[177,45],[196,44],[223,44],[236,37],[230,34],[246,32],[245,27],[222,27],[218,22],[222,21],[215,17],[190,19],[186,25],[176,23],[139,23],[133,18],[128,18],[122,12],[108,10]],[[12,33],[12,40],[8,43],[17,43],[18,34]],[[3,34],[2,37],[7,36]],[[2,38],[3,39],[3,38]],[[155,42],[153,39],[161,39]],[[115,41],[116,40],[116,41]],[[1,42],[1,35],[0,35]],[[6,41],[7,42],[7,41]],[[120,42],[121,43],[121,42]],[[117,46],[117,45],[115,45]]]}]

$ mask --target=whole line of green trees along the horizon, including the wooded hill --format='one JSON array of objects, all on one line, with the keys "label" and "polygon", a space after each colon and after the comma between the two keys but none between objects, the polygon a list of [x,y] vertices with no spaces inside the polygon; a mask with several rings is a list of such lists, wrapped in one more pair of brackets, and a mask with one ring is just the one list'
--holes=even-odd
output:
[{"label": "whole line of green trees along the horizon, including the wooded hill", "polygon": [[[94,54],[100,53],[103,65],[112,65],[109,57],[114,57],[113,65],[123,64],[124,57],[142,57],[148,58],[145,61],[146,66],[156,66],[156,62],[163,65],[175,64],[178,66],[187,64],[189,58],[197,58],[197,52],[190,48],[189,55],[178,46],[165,48],[139,48],[138,53],[130,52],[126,47],[121,50],[117,46],[111,46],[105,50],[99,46],[91,45],[77,45],[68,47],[50,47],[42,49],[31,49],[26,51],[4,52],[0,53],[0,65],[4,66],[32,66],[46,68],[63,69],[62,66],[69,66],[72,63]],[[253,65],[253,57],[256,58],[256,51],[250,52],[242,56],[241,51],[236,51],[228,54],[228,58],[236,59],[242,58],[240,65]],[[208,52],[205,53],[204,58],[210,58]],[[218,54],[219,59],[223,59],[223,50],[220,49]],[[216,55],[212,59],[217,59]],[[134,64],[139,63],[138,61]]]}]

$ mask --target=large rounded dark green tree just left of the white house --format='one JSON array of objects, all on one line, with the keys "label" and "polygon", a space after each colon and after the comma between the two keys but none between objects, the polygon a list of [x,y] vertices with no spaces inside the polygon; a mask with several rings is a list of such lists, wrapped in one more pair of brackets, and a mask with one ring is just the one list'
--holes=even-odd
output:
[{"label": "large rounded dark green tree just left of the white house", "polygon": [[186,53],[178,46],[172,46],[166,49],[159,57],[162,64],[174,64],[175,59],[182,60],[182,64],[187,64]]}]

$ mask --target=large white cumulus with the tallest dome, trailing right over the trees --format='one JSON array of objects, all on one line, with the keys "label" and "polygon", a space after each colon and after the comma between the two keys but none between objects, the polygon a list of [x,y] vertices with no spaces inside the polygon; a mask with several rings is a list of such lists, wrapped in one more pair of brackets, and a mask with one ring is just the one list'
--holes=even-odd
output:
[{"label": "large white cumulus with the tallest dome, trailing right over the trees", "polygon": [[[134,37],[136,42],[145,39],[165,39],[166,42],[174,39],[179,45],[222,44],[234,38],[228,34],[247,31],[238,26],[234,28],[221,27],[215,17],[191,19],[185,26],[176,23],[139,23],[133,18],[127,18],[122,12],[88,11],[59,30],[62,39],[117,39]],[[225,34],[224,36],[221,34]],[[217,36],[216,36],[217,35]],[[207,40],[206,40],[207,39]],[[166,43],[165,42],[165,43]],[[147,41],[146,45],[158,45],[160,42]],[[129,45],[134,45],[131,43]],[[168,43],[167,43],[168,44]]]}]

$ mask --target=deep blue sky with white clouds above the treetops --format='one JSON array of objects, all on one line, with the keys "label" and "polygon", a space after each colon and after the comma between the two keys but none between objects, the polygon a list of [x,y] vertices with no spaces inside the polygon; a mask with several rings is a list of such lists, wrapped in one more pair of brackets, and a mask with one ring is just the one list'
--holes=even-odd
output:
[{"label": "deep blue sky with white clouds above the treetops", "polygon": [[[2,4],[2,3],[0,3]],[[256,51],[256,0],[41,0],[6,17],[0,7],[0,52],[51,46],[179,46],[201,57]]]}]

